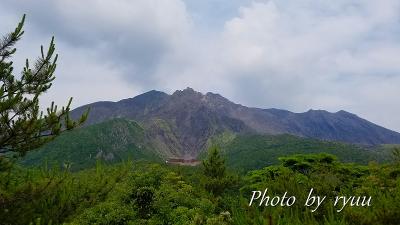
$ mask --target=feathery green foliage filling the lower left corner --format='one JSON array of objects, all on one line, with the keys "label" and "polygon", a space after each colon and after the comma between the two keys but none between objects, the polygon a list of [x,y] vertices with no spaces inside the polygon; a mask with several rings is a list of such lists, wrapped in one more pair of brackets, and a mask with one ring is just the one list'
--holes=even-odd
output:
[{"label": "feathery green foliage filling the lower left corner", "polygon": [[15,167],[0,173],[2,224],[59,224],[105,199],[128,171],[129,164],[96,168],[72,174],[66,170]]}]

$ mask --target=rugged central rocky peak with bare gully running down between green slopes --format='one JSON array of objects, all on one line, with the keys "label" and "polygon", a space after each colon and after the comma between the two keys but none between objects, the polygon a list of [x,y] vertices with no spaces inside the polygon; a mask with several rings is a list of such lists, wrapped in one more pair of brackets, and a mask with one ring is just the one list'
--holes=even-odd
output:
[{"label": "rugged central rocky peak with bare gully running down between green slopes", "polygon": [[251,132],[239,119],[216,111],[219,103],[211,93],[202,95],[192,89],[167,95],[150,91],[119,102],[96,102],[71,112],[77,117],[90,107],[86,125],[112,118],[137,121],[154,149],[166,157],[197,157],[208,140],[220,133]]}]

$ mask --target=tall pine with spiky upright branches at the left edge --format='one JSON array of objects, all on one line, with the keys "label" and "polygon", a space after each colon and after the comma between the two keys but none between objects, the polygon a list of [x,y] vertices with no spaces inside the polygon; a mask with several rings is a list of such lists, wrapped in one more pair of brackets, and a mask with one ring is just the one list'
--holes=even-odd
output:
[{"label": "tall pine with spiky upright branches at the left edge", "polygon": [[[25,15],[15,30],[0,41],[0,162],[5,157],[23,156],[51,141],[63,131],[72,130],[87,118],[88,111],[77,121],[70,119],[70,105],[61,110],[51,103],[47,113],[39,109],[39,97],[55,79],[58,55],[54,55],[54,37],[45,52],[30,66],[28,59],[20,76],[13,74],[10,58],[16,52],[14,45],[21,39]],[[1,168],[1,167],[0,167]]]}]

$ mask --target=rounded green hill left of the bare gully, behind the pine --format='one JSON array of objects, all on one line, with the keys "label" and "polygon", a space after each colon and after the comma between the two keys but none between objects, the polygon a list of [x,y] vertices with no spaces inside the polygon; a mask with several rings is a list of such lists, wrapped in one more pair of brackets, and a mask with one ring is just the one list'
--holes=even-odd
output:
[{"label": "rounded green hill left of the bare gully, behind the pine", "polygon": [[29,153],[23,164],[39,165],[46,160],[80,170],[93,167],[97,160],[116,163],[126,159],[160,160],[146,144],[144,131],[136,122],[113,119],[64,133]]}]

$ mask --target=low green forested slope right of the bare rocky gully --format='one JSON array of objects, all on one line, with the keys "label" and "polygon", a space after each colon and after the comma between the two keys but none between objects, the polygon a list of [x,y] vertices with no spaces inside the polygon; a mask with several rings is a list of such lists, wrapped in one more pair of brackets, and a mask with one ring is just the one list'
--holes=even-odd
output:
[{"label": "low green forested slope right of the bare rocky gully", "polygon": [[278,163],[279,157],[292,154],[325,152],[337,156],[343,162],[360,164],[385,159],[374,149],[292,135],[241,135],[225,144],[223,150],[227,165],[241,171],[273,165]]}]

